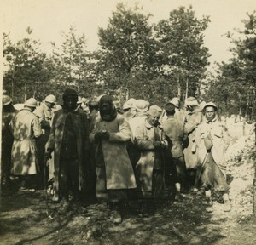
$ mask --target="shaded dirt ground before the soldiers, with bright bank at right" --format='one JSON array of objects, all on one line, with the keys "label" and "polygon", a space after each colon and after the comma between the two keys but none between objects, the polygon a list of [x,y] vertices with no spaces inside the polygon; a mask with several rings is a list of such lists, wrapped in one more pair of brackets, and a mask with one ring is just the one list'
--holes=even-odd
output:
[{"label": "shaded dirt ground before the soldiers, with bright bank at right", "polygon": [[256,154],[254,139],[248,135],[234,138],[227,151],[229,213],[217,195],[213,212],[207,213],[200,192],[190,192],[183,202],[152,204],[148,218],[139,218],[135,206],[129,205],[123,210],[123,223],[114,225],[105,204],[77,206],[60,215],[56,212],[60,204],[49,202],[46,214],[44,191],[14,191],[1,196],[0,244],[256,244],[252,194]]}]

